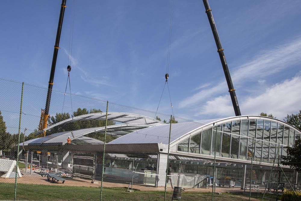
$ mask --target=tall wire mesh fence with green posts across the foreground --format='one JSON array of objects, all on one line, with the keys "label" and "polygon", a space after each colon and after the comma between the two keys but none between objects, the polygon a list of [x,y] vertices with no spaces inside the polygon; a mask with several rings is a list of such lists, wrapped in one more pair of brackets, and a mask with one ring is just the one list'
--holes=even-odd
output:
[{"label": "tall wire mesh fence with green posts across the foreground", "polygon": [[25,83],[21,99],[22,83],[0,84],[0,199],[280,200],[300,189],[281,165],[300,133],[282,121],[190,121],[53,90],[41,130],[47,89]]}]

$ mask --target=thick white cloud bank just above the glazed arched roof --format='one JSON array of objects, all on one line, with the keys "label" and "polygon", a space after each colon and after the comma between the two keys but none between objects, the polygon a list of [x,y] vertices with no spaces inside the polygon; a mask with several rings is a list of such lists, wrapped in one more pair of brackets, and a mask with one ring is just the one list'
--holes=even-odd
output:
[{"label": "thick white cloud bank just above the glazed arched roof", "polygon": [[[284,80],[266,89],[256,97],[246,97],[241,101],[243,115],[258,115],[260,112],[272,113],[278,119],[296,113],[301,102],[301,71],[290,80]],[[201,106],[197,115],[233,116],[234,111],[229,95],[219,96]]]}]

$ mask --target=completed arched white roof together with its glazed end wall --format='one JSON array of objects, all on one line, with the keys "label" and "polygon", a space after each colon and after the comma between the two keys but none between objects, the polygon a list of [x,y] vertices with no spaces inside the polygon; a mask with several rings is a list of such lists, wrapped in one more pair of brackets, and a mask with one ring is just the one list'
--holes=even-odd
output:
[{"label": "completed arched white roof together with its glazed end wall", "polygon": [[[140,136],[140,137],[139,137]],[[216,145],[215,145],[215,136]],[[300,130],[284,121],[263,116],[237,116],[195,122],[172,124],[171,154],[227,160],[251,160],[252,140],[255,160],[273,163],[274,157],[286,155],[286,147],[300,138]],[[137,130],[108,144],[158,144],[167,153],[169,125]]]}]

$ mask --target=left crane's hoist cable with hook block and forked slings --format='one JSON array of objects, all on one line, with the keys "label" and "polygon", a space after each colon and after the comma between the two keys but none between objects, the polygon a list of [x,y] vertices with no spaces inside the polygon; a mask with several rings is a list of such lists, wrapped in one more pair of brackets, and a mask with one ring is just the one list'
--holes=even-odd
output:
[{"label": "left crane's hoist cable with hook block and forked slings", "polygon": [[[69,90],[70,90],[70,101],[71,101],[72,114],[73,114],[73,108],[72,108],[72,95],[71,95],[71,84],[70,84],[70,71],[71,71],[71,62],[72,62],[72,46],[73,46],[75,7],[76,7],[76,0],[73,0],[72,1],[71,14],[70,14],[70,36],[69,36],[68,67],[67,67],[68,77],[67,77],[67,83],[66,83],[66,88],[65,88],[65,93],[64,93],[63,108],[62,108],[62,113],[63,113],[65,98],[66,98],[66,92],[67,92],[67,85],[68,85],[68,81],[69,81]],[[72,14],[73,14],[73,16],[72,16]]]}]

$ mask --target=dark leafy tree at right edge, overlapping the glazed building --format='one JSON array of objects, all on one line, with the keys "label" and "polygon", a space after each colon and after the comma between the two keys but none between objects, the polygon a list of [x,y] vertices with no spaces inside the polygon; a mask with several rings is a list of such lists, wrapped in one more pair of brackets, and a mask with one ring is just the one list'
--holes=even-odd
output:
[{"label": "dark leafy tree at right edge, overlapping the glazed building", "polygon": [[301,171],[301,139],[295,141],[293,147],[287,146],[287,156],[282,156],[282,165]]}]

